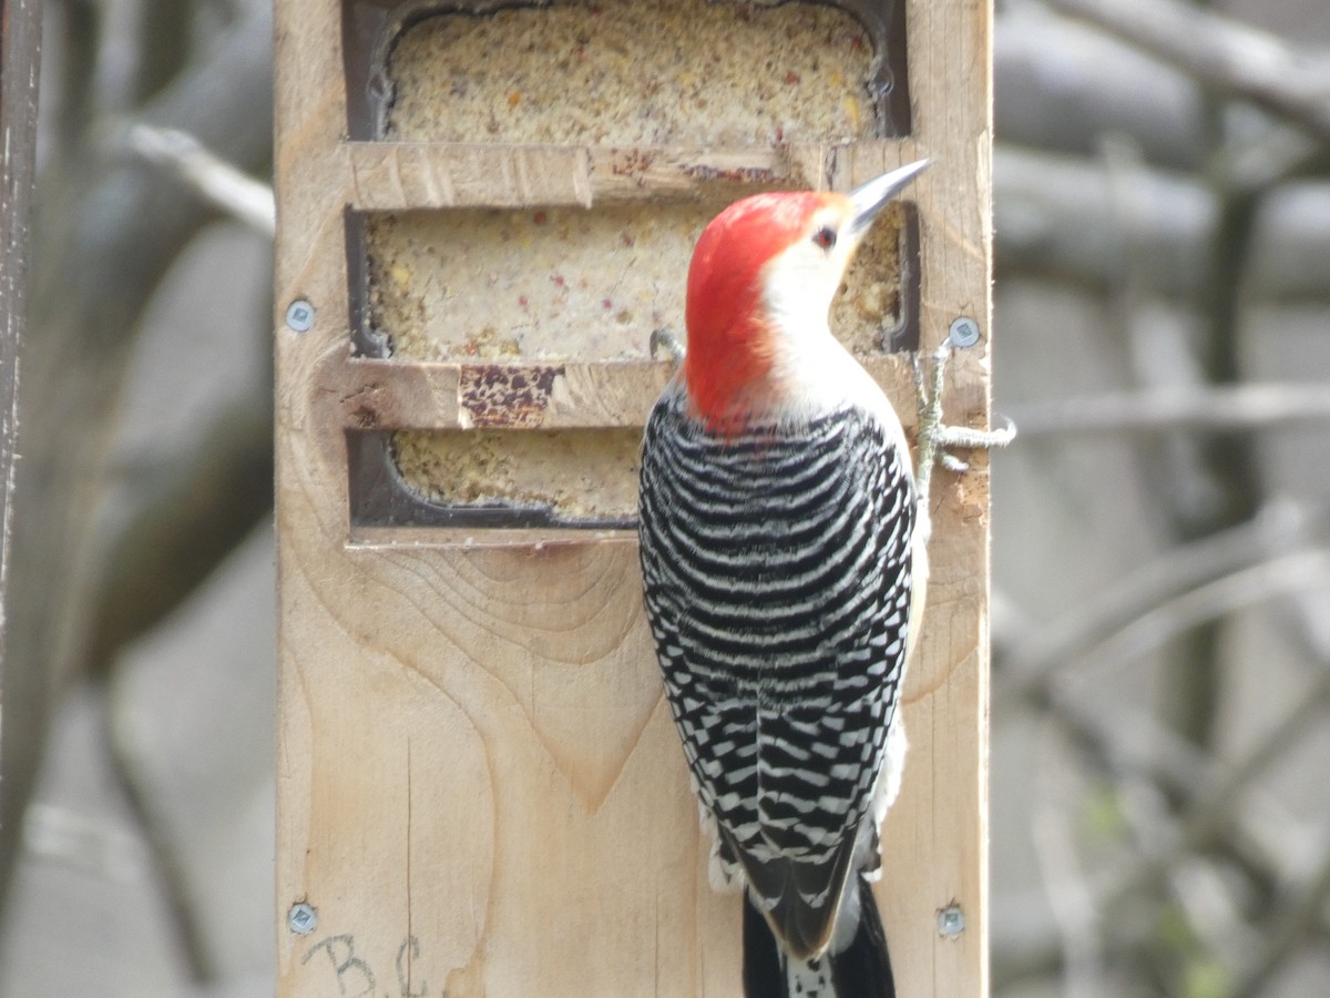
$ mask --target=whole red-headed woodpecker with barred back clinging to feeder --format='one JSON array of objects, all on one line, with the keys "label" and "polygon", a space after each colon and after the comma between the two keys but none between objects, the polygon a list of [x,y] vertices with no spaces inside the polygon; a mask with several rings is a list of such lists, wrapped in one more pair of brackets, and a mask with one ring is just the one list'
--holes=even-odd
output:
[{"label": "whole red-headed woodpecker with barred back clinging to feeder", "polygon": [[927,511],[900,420],[827,313],[924,165],[722,212],[642,443],[646,616],[713,882],[746,889],[750,998],[895,994],[868,880],[900,785]]}]

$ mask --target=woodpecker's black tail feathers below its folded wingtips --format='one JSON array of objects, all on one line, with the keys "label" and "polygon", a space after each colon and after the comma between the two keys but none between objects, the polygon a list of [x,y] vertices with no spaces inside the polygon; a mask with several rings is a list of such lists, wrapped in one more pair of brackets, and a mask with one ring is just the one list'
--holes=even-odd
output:
[{"label": "woodpecker's black tail feathers below its folded wingtips", "polygon": [[[814,961],[787,959],[771,927],[743,893],[743,994],[746,998],[896,998],[882,918],[868,882],[851,881],[855,898],[845,909],[858,925],[849,943]],[[849,890],[846,892],[849,894]],[[858,909],[857,915],[853,909]]]}]

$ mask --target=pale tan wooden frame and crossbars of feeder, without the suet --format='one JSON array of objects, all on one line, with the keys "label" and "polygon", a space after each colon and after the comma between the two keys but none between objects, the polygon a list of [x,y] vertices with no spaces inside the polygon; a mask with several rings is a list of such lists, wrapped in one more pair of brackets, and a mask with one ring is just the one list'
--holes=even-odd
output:
[{"label": "pale tan wooden frame and crossbars of feeder, without the suet", "polygon": [[[911,193],[922,337],[940,342],[959,315],[986,333],[947,379],[950,420],[980,426],[990,23],[987,3],[908,3],[907,138],[608,150],[347,141],[342,7],[278,1],[285,998],[739,990],[737,898],[708,886],[633,535],[352,527],[348,431],[466,432],[476,420],[468,365],[352,357],[346,210],[650,210],[653,198],[712,185],[738,196],[781,177],[846,189],[930,156]],[[650,165],[629,178],[614,161]],[[313,309],[303,331],[286,321],[293,302]],[[644,361],[557,367],[557,390],[513,432],[640,426],[666,375]],[[912,413],[906,362],[872,370]],[[935,479],[928,616],[904,708],[911,756],[883,830],[879,898],[904,995],[987,993],[988,482],[982,455],[975,464]],[[964,919],[955,935],[939,931],[952,906]]]}]

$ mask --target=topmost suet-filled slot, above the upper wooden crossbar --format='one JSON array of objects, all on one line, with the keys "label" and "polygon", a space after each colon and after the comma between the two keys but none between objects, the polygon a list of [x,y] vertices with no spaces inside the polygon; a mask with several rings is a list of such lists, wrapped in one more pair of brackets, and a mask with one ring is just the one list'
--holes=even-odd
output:
[{"label": "topmost suet-filled slot, above the upper wooden crossbar", "polygon": [[779,145],[910,132],[900,0],[352,0],[342,28],[352,140]]}]

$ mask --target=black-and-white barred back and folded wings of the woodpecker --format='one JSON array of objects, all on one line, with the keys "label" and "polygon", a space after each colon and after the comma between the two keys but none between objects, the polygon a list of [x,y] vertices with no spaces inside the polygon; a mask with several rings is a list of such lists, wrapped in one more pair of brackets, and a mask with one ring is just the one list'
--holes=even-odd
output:
[{"label": "black-and-white barred back and folded wings of the woodpecker", "polygon": [[646,426],[641,559],[666,695],[721,873],[742,870],[795,958],[827,945],[846,884],[878,865],[915,526],[896,439],[854,407],[714,434],[682,391]]}]

